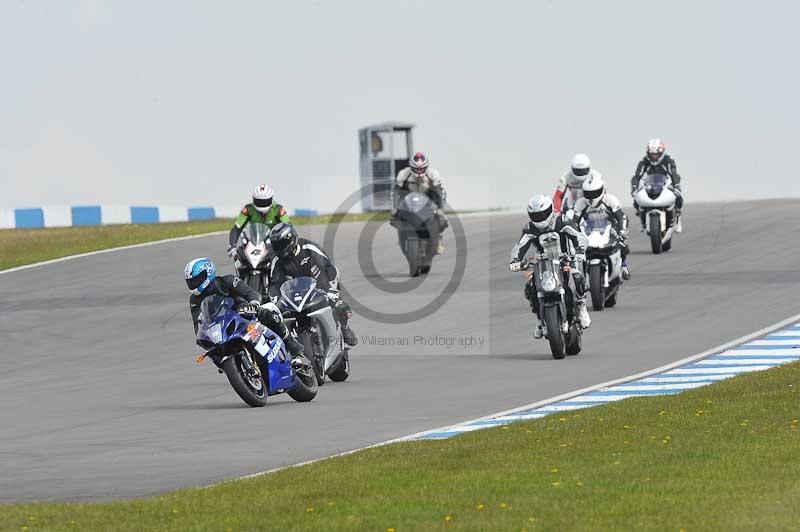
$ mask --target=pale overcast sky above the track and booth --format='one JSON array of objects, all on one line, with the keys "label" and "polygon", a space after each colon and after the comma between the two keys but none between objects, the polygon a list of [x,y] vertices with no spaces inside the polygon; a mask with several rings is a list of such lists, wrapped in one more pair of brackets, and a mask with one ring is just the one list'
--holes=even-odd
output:
[{"label": "pale overcast sky above the track and booth", "polygon": [[358,184],[356,130],[418,125],[457,207],[523,206],[647,140],[688,201],[800,196],[800,4],[0,0],[0,207],[290,207]]}]

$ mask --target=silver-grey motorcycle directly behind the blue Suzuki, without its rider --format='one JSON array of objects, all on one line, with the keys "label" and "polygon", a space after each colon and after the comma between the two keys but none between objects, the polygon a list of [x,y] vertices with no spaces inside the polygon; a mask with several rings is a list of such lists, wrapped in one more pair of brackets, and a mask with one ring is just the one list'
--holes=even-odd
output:
[{"label": "silver-grey motorcycle directly behind the blue Suzuki, without its rider", "polygon": [[334,382],[347,380],[350,376],[349,348],[333,316],[328,294],[317,288],[313,277],[289,279],[280,290],[278,307],[286,326],[303,344],[317,384],[324,384],[326,376]]}]

